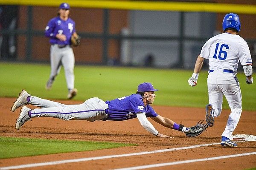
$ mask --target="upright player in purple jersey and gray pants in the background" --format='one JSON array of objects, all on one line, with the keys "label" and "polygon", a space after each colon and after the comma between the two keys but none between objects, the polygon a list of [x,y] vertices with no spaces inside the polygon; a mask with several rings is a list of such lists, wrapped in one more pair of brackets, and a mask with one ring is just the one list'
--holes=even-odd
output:
[{"label": "upright player in purple jersey and gray pants in the background", "polygon": [[50,90],[55,77],[61,70],[61,65],[64,67],[65,77],[68,88],[68,99],[72,99],[77,94],[77,89],[74,88],[74,66],[75,57],[71,47],[70,38],[76,34],[75,22],[68,17],[70,6],[67,3],[61,3],[58,9],[58,17],[49,20],[45,28],[45,36],[50,38],[50,61],[51,73],[45,88]]}]

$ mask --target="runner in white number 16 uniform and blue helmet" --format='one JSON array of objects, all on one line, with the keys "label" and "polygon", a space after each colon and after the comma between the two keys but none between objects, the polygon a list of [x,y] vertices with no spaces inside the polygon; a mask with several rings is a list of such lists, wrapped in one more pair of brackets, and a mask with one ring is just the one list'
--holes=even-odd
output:
[{"label": "runner in white number 16 uniform and blue helmet", "polygon": [[241,24],[237,14],[226,14],[222,27],[224,33],[210,38],[202,47],[196,63],[194,73],[189,78],[190,86],[197,85],[199,72],[204,59],[209,59],[209,75],[207,79],[209,104],[206,106],[206,122],[212,127],[214,117],[221,114],[223,95],[226,97],[231,113],[227,125],[222,133],[223,147],[237,147],[230,141],[242,112],[242,97],[239,81],[236,78],[239,61],[244,68],[246,83],[253,84],[252,57],[247,43],[237,33]]}]

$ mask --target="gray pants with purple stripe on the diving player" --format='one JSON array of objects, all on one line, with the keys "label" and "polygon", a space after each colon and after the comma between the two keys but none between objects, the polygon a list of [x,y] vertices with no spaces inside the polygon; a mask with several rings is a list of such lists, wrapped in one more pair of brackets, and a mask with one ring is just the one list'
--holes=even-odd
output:
[{"label": "gray pants with purple stripe on the diving player", "polygon": [[93,122],[108,117],[108,104],[98,97],[90,98],[80,105],[64,105],[31,96],[29,103],[40,107],[31,111],[31,118],[54,117],[63,120],[87,120]]}]

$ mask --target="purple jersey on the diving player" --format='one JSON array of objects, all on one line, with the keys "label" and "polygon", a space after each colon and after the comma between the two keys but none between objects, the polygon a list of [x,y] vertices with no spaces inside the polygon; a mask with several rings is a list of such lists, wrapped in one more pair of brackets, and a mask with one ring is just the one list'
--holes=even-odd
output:
[{"label": "purple jersey on the diving player", "polygon": [[156,117],[158,114],[150,105],[144,107],[140,94],[132,94],[111,101],[108,104],[108,117],[104,120],[128,120],[136,118],[136,113],[145,112],[147,117]]}]

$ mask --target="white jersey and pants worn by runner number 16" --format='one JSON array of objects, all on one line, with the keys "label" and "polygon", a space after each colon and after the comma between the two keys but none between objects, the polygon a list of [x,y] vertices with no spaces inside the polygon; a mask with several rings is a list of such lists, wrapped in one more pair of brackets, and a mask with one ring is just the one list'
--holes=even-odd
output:
[{"label": "white jersey and pants worn by runner number 16", "polygon": [[247,43],[236,34],[223,33],[210,38],[202,47],[200,56],[209,59],[207,79],[209,104],[213,116],[221,114],[223,94],[231,109],[227,125],[221,136],[231,138],[242,112],[242,97],[236,78],[239,61],[251,65],[252,58]]}]

